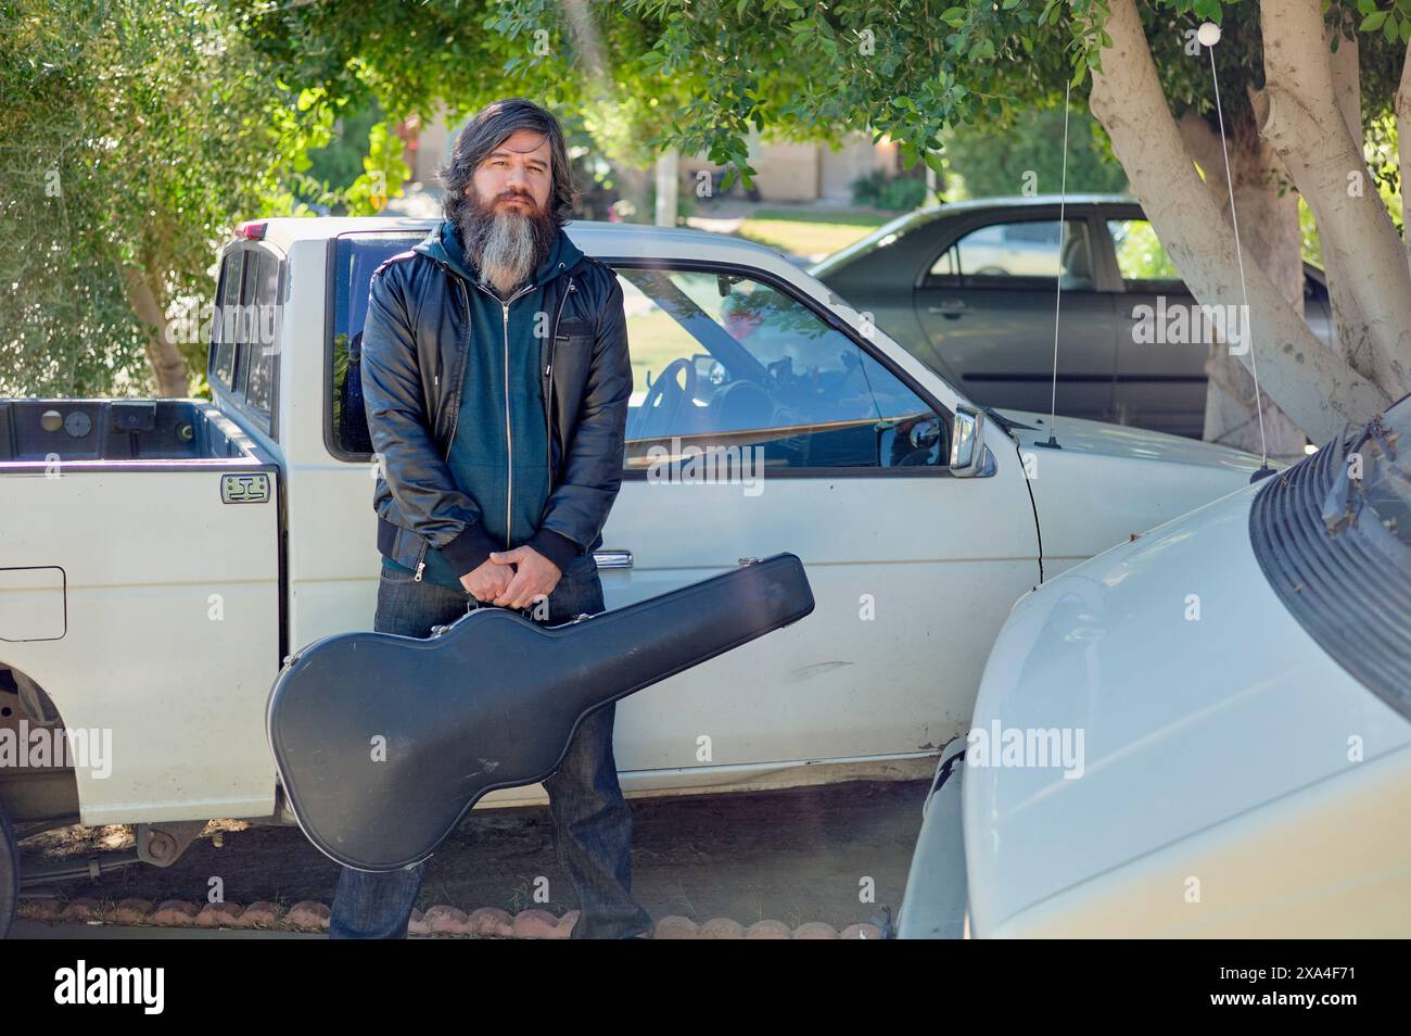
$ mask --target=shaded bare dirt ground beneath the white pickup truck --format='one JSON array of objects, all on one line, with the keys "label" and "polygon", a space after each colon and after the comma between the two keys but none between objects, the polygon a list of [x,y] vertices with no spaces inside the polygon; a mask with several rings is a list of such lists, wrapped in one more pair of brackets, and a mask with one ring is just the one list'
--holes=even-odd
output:
[{"label": "shaded bare dirt ground beneath the white pickup truck", "polygon": [[[790,926],[821,920],[841,930],[892,917],[902,902],[921,824],[926,781],[848,782],[782,792],[634,799],[632,889],[653,917],[696,922],[731,917],[742,924],[776,919]],[[333,902],[339,865],[298,827],[222,821],[223,845],[199,838],[169,868],[134,865],[97,879],[45,886],[62,899],[189,899],[205,903],[210,878],[224,901],[292,905]],[[24,861],[82,860],[131,848],[131,829],[68,827],[34,836]],[[547,878],[547,902],[533,898]],[[864,901],[871,878],[873,901]],[[538,882],[542,885],[543,882]],[[573,888],[553,851],[546,807],[478,809],[432,857],[418,906],[436,903],[526,908],[555,915],[574,909]]]}]

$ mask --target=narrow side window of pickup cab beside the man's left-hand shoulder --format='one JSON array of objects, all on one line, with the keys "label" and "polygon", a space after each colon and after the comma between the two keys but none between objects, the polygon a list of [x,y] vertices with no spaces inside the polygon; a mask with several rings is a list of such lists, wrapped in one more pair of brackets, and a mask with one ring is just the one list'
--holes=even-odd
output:
[{"label": "narrow side window of pickup cab beside the man's left-hand shoulder", "polygon": [[425,236],[422,231],[344,234],[333,246],[333,342],[327,381],[333,398],[327,409],[327,435],[329,452],[340,460],[367,460],[373,454],[361,381],[363,322],[373,271]]}]

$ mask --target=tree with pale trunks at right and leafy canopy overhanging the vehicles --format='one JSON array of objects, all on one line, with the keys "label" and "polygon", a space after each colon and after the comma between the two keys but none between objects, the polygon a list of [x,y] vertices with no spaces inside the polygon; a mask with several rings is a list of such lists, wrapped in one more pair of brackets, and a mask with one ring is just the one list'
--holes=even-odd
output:
[{"label": "tree with pale trunks at right and leafy canopy overhanging the vehicles", "polygon": [[[624,0],[597,8],[581,0],[511,0],[474,10],[432,0],[418,6],[415,31],[378,27],[377,47],[358,52],[388,97],[425,104],[447,85],[453,96],[477,100],[532,92],[546,103],[631,113],[622,121],[631,140],[655,119],[643,148],[704,152],[746,182],[751,127],[832,144],[866,128],[899,141],[906,168],[926,161],[940,171],[947,130],[989,128],[1026,107],[1061,103],[1071,82],[1074,103],[1086,100],[1101,120],[1197,299],[1240,305],[1239,285],[1247,282],[1252,347],[1237,359],[1236,350],[1212,350],[1208,436],[1233,432],[1257,445],[1245,373],[1257,361],[1266,397],[1291,418],[1260,401],[1260,411],[1270,411],[1261,423],[1271,452],[1287,454],[1301,443],[1298,429],[1331,438],[1408,387],[1411,313],[1403,311],[1411,306],[1411,274],[1404,258],[1390,261],[1401,253],[1400,239],[1360,145],[1364,126],[1384,135],[1393,113],[1404,120],[1411,110],[1411,102],[1397,100],[1411,21],[1400,13],[1404,0],[1359,6],[1360,16],[1345,0],[1329,3],[1326,14],[1319,0],[1154,0],[1140,10],[1134,0],[967,0],[934,8],[930,0],[885,7]],[[450,54],[436,42],[452,11],[480,20],[477,45],[488,61],[473,71],[456,52],[460,37]],[[315,51],[343,38],[322,52],[349,54],[357,49],[349,34],[363,30],[347,13],[293,8],[282,17],[296,28],[284,35],[303,32],[319,41]],[[1204,18],[1226,27],[1216,56],[1232,183],[1209,55],[1192,47]],[[1266,40],[1274,45],[1266,48]],[[1362,193],[1350,195],[1352,185]],[[1294,189],[1318,222],[1338,351],[1321,346],[1301,319]],[[1249,246],[1245,278],[1236,219]],[[1363,243],[1371,246],[1366,254]]]}]

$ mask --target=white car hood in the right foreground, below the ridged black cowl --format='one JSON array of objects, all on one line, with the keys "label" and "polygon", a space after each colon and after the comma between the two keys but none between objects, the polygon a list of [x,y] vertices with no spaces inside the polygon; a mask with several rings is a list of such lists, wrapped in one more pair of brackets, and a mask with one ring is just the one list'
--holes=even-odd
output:
[{"label": "white car hood in the right foreground, below the ridged black cowl", "polygon": [[1411,742],[1411,724],[1314,644],[1270,589],[1247,531],[1256,491],[1113,548],[1015,606],[972,730],[1081,730],[1082,768],[1065,778],[965,766],[976,934],[1023,930],[1006,922],[1346,773],[1349,735],[1369,762]]}]

